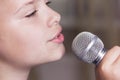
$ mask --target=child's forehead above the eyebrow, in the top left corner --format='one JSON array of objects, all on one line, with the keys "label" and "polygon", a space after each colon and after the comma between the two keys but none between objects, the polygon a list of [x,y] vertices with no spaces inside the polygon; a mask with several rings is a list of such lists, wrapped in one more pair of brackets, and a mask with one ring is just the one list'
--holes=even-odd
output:
[{"label": "child's forehead above the eyebrow, in the top left corner", "polygon": [[0,18],[2,16],[14,14],[25,4],[29,4],[34,1],[35,0],[0,0]]}]

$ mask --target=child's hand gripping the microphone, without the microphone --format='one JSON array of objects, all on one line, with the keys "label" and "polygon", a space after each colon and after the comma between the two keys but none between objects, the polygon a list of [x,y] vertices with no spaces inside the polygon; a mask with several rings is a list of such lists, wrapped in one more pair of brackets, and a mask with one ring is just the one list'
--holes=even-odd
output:
[{"label": "child's hand gripping the microphone, without the microphone", "polygon": [[120,80],[120,47],[115,46],[96,67],[96,80]]}]

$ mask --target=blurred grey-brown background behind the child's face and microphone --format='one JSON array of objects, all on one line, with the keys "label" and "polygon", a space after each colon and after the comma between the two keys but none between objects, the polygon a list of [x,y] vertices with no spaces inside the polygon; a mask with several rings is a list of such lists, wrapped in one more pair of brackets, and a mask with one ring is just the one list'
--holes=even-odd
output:
[{"label": "blurred grey-brown background behind the child's face and microphone", "polygon": [[120,0],[51,0],[62,16],[66,54],[56,62],[33,68],[30,80],[95,80],[95,66],[78,60],[71,50],[73,38],[82,31],[98,35],[105,48],[120,43]]}]

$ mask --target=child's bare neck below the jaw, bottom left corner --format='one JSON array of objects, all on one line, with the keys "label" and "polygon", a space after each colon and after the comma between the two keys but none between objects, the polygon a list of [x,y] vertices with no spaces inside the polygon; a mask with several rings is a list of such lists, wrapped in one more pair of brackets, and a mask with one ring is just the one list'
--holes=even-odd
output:
[{"label": "child's bare neck below the jaw, bottom left corner", "polygon": [[0,80],[27,80],[30,69],[0,64]]}]

